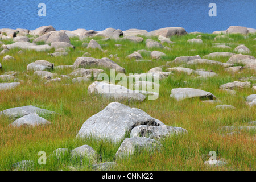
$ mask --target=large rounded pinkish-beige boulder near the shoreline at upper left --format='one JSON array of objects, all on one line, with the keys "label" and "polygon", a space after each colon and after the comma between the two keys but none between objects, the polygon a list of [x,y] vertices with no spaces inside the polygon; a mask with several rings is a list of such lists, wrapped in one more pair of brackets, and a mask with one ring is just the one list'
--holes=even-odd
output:
[{"label": "large rounded pinkish-beige boulder near the shoreline at upper left", "polygon": [[64,31],[51,31],[33,40],[33,43],[37,42],[44,42],[46,44],[51,44],[53,42],[70,43],[70,39]]}]

